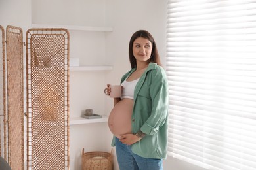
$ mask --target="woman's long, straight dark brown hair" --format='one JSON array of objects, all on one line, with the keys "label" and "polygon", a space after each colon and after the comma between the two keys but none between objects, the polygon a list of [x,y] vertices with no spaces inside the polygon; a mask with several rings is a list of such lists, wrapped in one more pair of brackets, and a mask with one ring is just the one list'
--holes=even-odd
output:
[{"label": "woman's long, straight dark brown hair", "polygon": [[154,38],[148,31],[139,30],[139,31],[136,31],[135,33],[133,33],[133,35],[131,36],[130,42],[129,42],[129,59],[130,59],[130,63],[131,63],[131,68],[137,67],[135,56],[133,56],[133,42],[138,37],[148,39],[148,41],[150,41],[152,43],[152,52],[151,52],[150,59],[148,59],[148,63],[152,62],[152,63],[157,63],[158,65],[161,65],[160,56],[158,54],[158,48],[156,48],[156,42],[154,41]]}]

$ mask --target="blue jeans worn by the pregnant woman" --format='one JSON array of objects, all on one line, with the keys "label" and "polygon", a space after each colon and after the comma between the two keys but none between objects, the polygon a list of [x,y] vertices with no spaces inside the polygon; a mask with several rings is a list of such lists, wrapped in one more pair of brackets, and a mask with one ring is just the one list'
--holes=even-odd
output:
[{"label": "blue jeans worn by the pregnant woman", "polygon": [[162,170],[161,159],[143,158],[131,151],[131,146],[123,144],[116,137],[116,155],[120,170]]}]

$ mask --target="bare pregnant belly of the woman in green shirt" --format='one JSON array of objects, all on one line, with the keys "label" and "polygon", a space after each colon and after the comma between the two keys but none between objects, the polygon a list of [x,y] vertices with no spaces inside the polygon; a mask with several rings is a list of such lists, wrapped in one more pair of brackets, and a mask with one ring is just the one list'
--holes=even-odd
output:
[{"label": "bare pregnant belly of the woman in green shirt", "polygon": [[110,112],[108,127],[117,138],[126,133],[131,133],[131,114],[133,100],[121,99]]}]

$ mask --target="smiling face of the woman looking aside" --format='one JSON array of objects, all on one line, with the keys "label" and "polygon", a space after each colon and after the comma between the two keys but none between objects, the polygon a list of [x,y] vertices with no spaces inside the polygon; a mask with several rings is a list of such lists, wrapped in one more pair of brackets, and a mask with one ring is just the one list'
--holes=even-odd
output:
[{"label": "smiling face of the woman looking aside", "polygon": [[139,62],[145,62],[150,59],[152,52],[152,43],[145,38],[138,37],[133,42],[133,56],[135,56],[135,59],[138,63]]}]

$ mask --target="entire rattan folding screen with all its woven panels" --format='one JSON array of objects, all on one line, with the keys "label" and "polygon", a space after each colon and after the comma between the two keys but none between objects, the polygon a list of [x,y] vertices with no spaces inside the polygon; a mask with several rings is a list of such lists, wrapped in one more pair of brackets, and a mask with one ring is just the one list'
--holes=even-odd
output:
[{"label": "entire rattan folding screen with all its woven panels", "polygon": [[[27,169],[69,169],[68,31],[27,31],[26,114],[22,29],[7,26],[5,41],[5,31],[0,25],[0,38],[1,156],[4,155],[14,170],[24,169],[24,154]],[[26,127],[24,116],[27,116]]]}]

